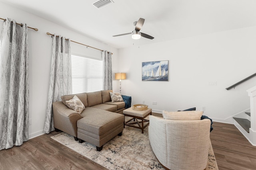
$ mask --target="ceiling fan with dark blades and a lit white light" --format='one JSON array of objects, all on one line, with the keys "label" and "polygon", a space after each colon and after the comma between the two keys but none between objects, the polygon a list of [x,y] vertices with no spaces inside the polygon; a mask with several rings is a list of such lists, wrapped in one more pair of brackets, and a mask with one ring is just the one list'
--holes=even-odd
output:
[{"label": "ceiling fan with dark blades and a lit white light", "polygon": [[113,35],[113,37],[118,37],[118,36],[122,36],[122,35],[128,35],[128,34],[132,34],[132,39],[140,39],[140,37],[145,37],[148,39],[154,39],[154,37],[145,34],[145,33],[141,33],[140,29],[142,28],[143,24],[144,24],[145,19],[140,18],[138,21],[135,21],[133,23],[133,25],[135,26],[135,29],[131,32],[131,33],[124,33],[124,34],[119,34],[119,35]]}]

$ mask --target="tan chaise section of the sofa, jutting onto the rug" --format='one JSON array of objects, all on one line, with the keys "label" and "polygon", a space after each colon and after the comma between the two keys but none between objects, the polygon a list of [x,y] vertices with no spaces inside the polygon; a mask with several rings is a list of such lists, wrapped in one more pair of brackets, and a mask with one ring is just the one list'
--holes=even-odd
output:
[{"label": "tan chaise section of the sofa, jutting onto the rug", "polygon": [[124,130],[124,115],[93,107],[86,107],[82,119],[77,121],[77,137],[96,146],[101,151],[105,143]]}]

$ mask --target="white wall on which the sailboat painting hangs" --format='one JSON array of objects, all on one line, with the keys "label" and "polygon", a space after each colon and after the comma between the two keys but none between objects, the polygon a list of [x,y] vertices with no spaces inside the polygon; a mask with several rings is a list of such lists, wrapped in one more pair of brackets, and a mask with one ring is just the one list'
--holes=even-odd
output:
[{"label": "white wall on which the sailboat painting hangs", "polygon": [[[146,100],[155,112],[205,106],[204,115],[225,122],[250,108],[246,90],[256,85],[256,78],[225,88],[256,72],[255,47],[254,26],[119,49],[119,71],[128,72],[122,94],[132,96],[132,104]],[[142,62],[162,60],[169,61],[169,81],[142,81]]]}]

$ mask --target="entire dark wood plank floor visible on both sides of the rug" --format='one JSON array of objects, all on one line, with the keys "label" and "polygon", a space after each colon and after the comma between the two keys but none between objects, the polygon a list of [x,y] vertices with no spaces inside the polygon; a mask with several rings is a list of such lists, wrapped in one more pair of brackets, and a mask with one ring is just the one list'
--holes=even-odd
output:
[{"label": "entire dark wood plank floor visible on both sides of the rug", "polygon": [[[234,125],[214,122],[213,128],[210,138],[220,170],[256,169],[256,147]],[[50,138],[56,134],[51,132],[20,147],[0,150],[0,170],[106,170]]]}]

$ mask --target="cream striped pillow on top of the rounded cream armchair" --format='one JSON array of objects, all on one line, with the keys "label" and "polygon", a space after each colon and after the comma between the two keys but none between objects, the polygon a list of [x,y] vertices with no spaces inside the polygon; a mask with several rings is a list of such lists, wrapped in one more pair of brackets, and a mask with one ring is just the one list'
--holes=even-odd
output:
[{"label": "cream striped pillow on top of the rounded cream armchair", "polygon": [[169,120],[200,120],[204,111],[162,111],[164,119]]}]

